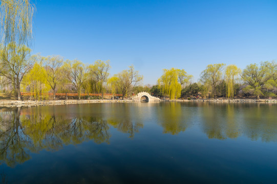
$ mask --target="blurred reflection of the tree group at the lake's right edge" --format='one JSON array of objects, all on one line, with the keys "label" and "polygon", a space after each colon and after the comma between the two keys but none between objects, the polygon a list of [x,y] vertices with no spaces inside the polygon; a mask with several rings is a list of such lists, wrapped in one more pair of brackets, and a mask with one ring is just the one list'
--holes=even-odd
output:
[{"label": "blurred reflection of the tree group at the lake's right edge", "polygon": [[200,126],[209,138],[277,141],[276,106],[270,104],[204,104]]}]

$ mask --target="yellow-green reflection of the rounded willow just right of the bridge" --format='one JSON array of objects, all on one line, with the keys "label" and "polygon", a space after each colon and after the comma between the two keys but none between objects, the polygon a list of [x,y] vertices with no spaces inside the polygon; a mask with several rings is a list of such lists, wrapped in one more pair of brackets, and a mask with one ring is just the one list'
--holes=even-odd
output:
[{"label": "yellow-green reflection of the rounded willow just right of the bridge", "polygon": [[178,134],[190,126],[191,111],[183,109],[181,103],[163,103],[157,110],[159,123],[164,133]]}]

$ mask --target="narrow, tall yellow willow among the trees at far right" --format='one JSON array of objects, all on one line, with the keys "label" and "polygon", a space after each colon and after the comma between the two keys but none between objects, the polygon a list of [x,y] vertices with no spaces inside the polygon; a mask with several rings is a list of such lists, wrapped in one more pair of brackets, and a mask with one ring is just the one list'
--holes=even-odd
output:
[{"label": "narrow, tall yellow willow among the trees at far right", "polygon": [[227,98],[233,98],[234,97],[234,85],[236,79],[241,74],[241,69],[238,68],[236,65],[228,65],[225,69],[225,80],[226,80],[226,86],[227,86]]}]

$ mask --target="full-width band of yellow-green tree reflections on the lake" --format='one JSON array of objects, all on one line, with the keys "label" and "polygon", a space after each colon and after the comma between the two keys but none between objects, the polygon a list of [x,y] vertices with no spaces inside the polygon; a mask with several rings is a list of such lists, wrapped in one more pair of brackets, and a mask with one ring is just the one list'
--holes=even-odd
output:
[{"label": "full-width band of yellow-green tree reflections on the lake", "polygon": [[[111,127],[131,139],[154,123],[172,135],[200,127],[209,139],[277,141],[276,105],[209,103],[82,104],[0,109],[0,160],[10,167],[30,153],[85,141],[109,144]],[[152,132],[158,129],[152,127]],[[157,137],[158,139],[158,137]]]}]

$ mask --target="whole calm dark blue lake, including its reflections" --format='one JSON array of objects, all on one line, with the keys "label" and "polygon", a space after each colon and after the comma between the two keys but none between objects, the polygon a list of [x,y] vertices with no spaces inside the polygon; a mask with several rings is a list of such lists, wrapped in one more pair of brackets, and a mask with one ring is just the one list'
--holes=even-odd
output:
[{"label": "whole calm dark blue lake, including its reflections", "polygon": [[277,183],[277,105],[0,109],[2,183]]}]

